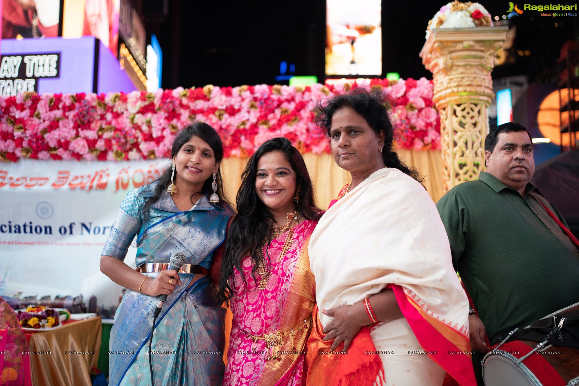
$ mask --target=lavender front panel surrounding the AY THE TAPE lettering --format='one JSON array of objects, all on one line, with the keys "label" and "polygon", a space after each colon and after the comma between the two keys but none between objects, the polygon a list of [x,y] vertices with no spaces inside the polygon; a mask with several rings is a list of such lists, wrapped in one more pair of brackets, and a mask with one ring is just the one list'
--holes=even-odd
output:
[{"label": "lavender front panel surrounding the AY THE TAPE lettering", "polygon": [[60,53],[59,78],[39,79],[38,93],[90,93],[93,91],[94,42],[93,36],[2,39],[2,56]]}]

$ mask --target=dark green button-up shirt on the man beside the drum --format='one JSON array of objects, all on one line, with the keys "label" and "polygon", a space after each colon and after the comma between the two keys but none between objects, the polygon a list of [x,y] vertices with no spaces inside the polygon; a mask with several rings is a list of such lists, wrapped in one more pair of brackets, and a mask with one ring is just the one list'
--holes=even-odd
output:
[{"label": "dark green button-up shirt on the man beside the drum", "polygon": [[527,184],[525,197],[481,172],[438,203],[455,269],[489,339],[579,302],[579,251]]}]

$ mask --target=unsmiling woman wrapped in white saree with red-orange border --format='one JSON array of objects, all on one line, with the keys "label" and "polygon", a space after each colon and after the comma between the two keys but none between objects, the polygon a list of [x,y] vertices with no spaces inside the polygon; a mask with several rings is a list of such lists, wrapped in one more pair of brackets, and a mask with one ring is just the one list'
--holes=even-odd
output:
[{"label": "unsmiling woman wrapped in white saree with red-orange border", "polygon": [[318,126],[352,182],[310,239],[320,312],[307,384],[476,385],[467,296],[433,201],[393,150],[386,105],[359,88],[319,106]]}]

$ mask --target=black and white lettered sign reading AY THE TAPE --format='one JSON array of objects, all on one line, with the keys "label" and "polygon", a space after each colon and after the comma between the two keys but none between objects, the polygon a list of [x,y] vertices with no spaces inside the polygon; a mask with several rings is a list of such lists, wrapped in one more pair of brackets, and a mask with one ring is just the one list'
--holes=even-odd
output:
[{"label": "black and white lettered sign reading AY THE TAPE", "polygon": [[0,57],[0,95],[38,92],[38,79],[58,78],[60,54],[18,54]]}]

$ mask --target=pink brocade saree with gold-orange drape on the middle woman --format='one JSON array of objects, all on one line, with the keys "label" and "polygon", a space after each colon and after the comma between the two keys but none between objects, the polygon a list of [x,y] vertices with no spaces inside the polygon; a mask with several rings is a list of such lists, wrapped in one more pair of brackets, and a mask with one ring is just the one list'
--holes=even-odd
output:
[{"label": "pink brocade saree with gold-orange drape on the middle woman", "polygon": [[272,241],[267,249],[269,279],[262,281],[258,273],[257,281],[251,277],[250,256],[242,262],[247,286],[234,270],[233,323],[223,385],[302,385],[316,291],[307,244],[316,223],[305,220],[294,227],[284,256],[280,255],[287,233]]}]

